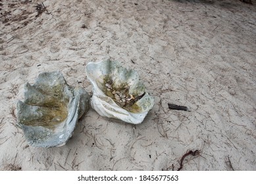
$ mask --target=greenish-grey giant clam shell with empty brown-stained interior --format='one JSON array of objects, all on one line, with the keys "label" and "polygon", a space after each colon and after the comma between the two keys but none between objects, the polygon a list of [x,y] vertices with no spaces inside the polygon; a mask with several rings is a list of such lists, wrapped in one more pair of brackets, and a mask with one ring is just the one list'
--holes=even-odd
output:
[{"label": "greenish-grey giant clam shell with empty brown-stained interior", "polygon": [[24,86],[24,103],[17,103],[17,123],[30,145],[62,146],[89,103],[88,93],[68,85],[61,72],[41,73],[34,85]]}]

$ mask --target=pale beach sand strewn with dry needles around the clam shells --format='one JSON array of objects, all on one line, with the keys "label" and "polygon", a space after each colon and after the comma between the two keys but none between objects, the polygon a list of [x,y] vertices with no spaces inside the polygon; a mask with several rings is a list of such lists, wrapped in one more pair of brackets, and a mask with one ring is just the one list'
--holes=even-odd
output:
[{"label": "pale beach sand strewn with dry needles around the clam shells", "polygon": [[[182,170],[256,170],[256,1],[0,3],[0,170],[178,170],[190,150]],[[29,146],[15,126],[24,83],[59,70],[91,94],[85,66],[108,58],[154,97],[145,120],[90,108],[63,147]]]}]

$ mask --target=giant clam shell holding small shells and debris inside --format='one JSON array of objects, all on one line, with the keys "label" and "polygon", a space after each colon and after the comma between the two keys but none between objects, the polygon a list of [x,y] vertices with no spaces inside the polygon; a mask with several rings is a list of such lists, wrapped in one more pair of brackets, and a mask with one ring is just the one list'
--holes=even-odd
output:
[{"label": "giant clam shell holding small shells and debris inside", "polygon": [[138,73],[116,61],[90,62],[86,74],[93,85],[91,107],[101,116],[140,124],[153,107]]}]

